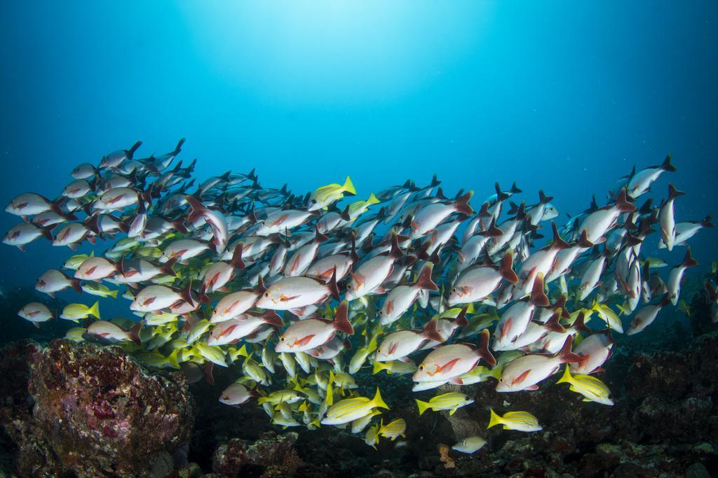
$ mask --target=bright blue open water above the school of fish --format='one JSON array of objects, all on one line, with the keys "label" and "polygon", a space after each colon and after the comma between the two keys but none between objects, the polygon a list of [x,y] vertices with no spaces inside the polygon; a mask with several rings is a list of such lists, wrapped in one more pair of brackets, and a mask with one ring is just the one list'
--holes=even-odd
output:
[{"label": "bright blue open water above the school of fish", "polygon": [[[672,152],[656,188],[687,191],[678,217],[697,220],[718,213],[717,27],[714,1],[6,1],[1,196],[56,196],[80,162],[186,136],[200,178],[256,167],[303,192],[350,174],[368,196],[439,173],[477,199],[516,181],[563,216]],[[715,241],[691,241],[704,266]],[[69,253],[0,247],[1,285]]]}]

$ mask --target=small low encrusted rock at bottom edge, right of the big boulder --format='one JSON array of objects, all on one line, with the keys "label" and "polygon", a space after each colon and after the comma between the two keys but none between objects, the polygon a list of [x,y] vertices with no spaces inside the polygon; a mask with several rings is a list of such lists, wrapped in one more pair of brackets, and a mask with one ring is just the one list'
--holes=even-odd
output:
[{"label": "small low encrusted rock at bottom edge, right of the big boulder", "polygon": [[231,439],[220,444],[212,457],[212,469],[223,477],[275,477],[292,475],[302,467],[294,450],[298,434],[269,431],[256,441]]}]

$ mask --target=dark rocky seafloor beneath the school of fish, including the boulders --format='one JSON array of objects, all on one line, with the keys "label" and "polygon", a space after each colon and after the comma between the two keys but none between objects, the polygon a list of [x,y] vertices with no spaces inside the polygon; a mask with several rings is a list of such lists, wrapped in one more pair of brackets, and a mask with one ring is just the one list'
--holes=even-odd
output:
[{"label": "dark rocky seafloor beneath the school of fish, including the boulders", "polygon": [[[689,320],[676,310],[645,333],[615,335],[602,376],[612,407],[584,403],[567,386],[495,393],[463,387],[472,406],[419,417],[410,378],[358,375],[378,384],[406,439],[271,426],[261,408],[218,402],[233,381],[188,384],[178,371],[150,371],[118,347],[52,340],[68,324],[34,330],[13,317],[34,295],[4,300],[0,360],[0,476],[23,477],[709,477],[718,476],[718,325],[700,283],[686,287]],[[32,337],[28,340],[27,337]],[[544,430],[486,430],[488,408],[531,411]],[[450,449],[478,434],[475,454]]]}]

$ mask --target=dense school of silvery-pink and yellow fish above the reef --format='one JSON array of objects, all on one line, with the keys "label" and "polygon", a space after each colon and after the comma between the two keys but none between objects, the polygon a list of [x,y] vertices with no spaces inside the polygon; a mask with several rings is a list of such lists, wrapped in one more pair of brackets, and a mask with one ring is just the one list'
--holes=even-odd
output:
[{"label": "dense school of silvery-pink and yellow fish above the reef", "polygon": [[[138,318],[101,320],[97,300],[63,310],[32,302],[20,317],[38,327],[72,320],[67,339],[121,345],[190,381],[213,383],[213,367],[231,367],[238,378],[220,402],[254,402],[283,427],[366,430],[375,447],[404,436],[406,421],[382,418],[389,407],[378,388],[356,393],[363,368],[411,375],[419,415],[454,414],[474,401],[433,389],[490,379],[498,393],[568,383],[577,399],[612,405],[598,378],[612,334],[640,333],[678,304],[686,269],[697,264],[686,247],[660,274],[667,264],[641,247],[685,247],[713,226],[710,216],[677,221],[684,193],[670,183],[660,204],[635,204],[676,171],[671,156],[634,168],[605,205],[594,198],[559,226],[551,196],[519,203],[516,184],[503,191],[497,183],[477,201],[473,191],[447,196],[434,176],[347,202],[357,194],[349,177],[306,195],[260,186],[254,170],[196,183],[196,160],[172,166],[184,142],[136,158],[137,142],[77,166],[57,199],[24,193],[5,209],[23,220],[3,242],[23,251],[40,238],[73,250],[108,245],[44,272],[39,292],[119,294]],[[705,286],[718,320],[718,287]],[[489,427],[498,424],[541,430],[527,411],[492,409]],[[453,449],[484,444],[471,436]]]}]

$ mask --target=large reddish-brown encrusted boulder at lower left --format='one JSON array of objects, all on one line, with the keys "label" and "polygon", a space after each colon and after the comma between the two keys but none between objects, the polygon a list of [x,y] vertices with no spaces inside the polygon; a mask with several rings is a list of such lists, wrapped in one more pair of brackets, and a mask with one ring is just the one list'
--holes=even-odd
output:
[{"label": "large reddish-brown encrusted boulder at lower left", "polygon": [[15,344],[8,354],[13,360],[1,367],[14,362],[17,370],[7,371],[0,419],[17,444],[21,474],[173,471],[173,451],[189,441],[194,417],[180,373],[146,373],[121,348],[67,340]]}]

